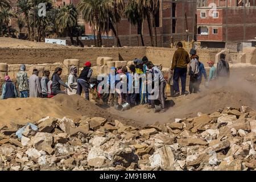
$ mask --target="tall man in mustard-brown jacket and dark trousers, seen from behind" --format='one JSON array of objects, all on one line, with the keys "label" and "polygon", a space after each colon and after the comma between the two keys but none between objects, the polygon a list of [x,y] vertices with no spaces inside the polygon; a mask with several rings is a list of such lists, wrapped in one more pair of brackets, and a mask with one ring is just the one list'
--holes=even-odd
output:
[{"label": "tall man in mustard-brown jacket and dark trousers, seen from behind", "polygon": [[189,54],[183,48],[183,44],[178,42],[177,47],[171,66],[171,70],[174,72],[175,97],[180,95],[179,78],[181,80],[181,95],[186,94],[187,65],[190,63]]}]

